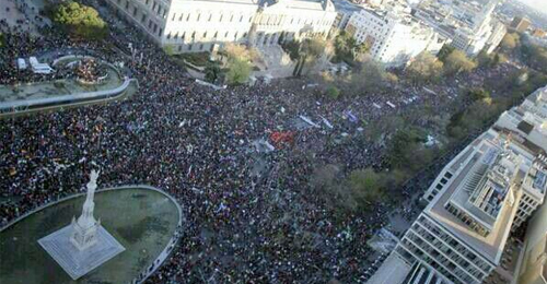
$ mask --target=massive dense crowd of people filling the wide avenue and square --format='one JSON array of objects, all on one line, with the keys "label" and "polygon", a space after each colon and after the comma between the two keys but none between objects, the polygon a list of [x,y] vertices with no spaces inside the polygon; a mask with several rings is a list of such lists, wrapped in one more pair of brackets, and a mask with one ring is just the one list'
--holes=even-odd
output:
[{"label": "massive dense crowd of people filling the wide avenue and square", "polygon": [[[310,176],[327,163],[348,170],[382,167],[384,145],[358,142],[361,119],[424,102],[449,108],[417,87],[329,100],[302,79],[216,91],[130,29],[113,31],[115,46],[107,46],[71,43],[49,29],[37,40],[1,28],[8,48],[0,57],[8,60],[0,64],[42,50],[94,50],[125,62],[124,72],[140,87],[124,102],[0,120],[0,225],[80,191],[94,167],[102,171],[101,187],[161,188],[178,200],[185,221],[172,257],[147,283],[364,282],[371,264],[365,241],[385,222],[387,204],[338,216],[314,193]],[[131,59],[141,51],[144,60]],[[0,68],[0,84],[19,81],[13,69]],[[249,151],[275,131],[293,131],[294,143]]]}]

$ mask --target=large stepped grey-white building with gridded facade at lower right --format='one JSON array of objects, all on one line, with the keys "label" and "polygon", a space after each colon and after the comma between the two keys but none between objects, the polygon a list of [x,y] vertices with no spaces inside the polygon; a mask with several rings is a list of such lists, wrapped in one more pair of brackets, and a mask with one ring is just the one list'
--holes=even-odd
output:
[{"label": "large stepped grey-white building with gridded facade at lower right", "polygon": [[482,283],[500,265],[511,230],[544,203],[546,152],[547,86],[503,113],[443,168],[394,253],[419,265],[420,279]]}]

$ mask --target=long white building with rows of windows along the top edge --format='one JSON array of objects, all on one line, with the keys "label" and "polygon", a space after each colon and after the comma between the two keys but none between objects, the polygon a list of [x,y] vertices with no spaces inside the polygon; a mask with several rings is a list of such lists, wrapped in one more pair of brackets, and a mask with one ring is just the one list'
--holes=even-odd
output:
[{"label": "long white building with rows of windows along the top edge", "polygon": [[118,14],[174,54],[225,43],[272,45],[279,38],[325,37],[336,19],[330,0],[107,0]]}]

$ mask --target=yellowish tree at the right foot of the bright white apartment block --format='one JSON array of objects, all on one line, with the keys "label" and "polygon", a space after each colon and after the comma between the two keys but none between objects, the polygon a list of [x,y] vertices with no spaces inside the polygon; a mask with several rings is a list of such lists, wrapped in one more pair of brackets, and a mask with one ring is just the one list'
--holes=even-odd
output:
[{"label": "yellowish tree at the right foot of the bright white apartment block", "polygon": [[415,83],[429,83],[439,79],[443,66],[431,54],[422,52],[407,67],[407,72]]}]

